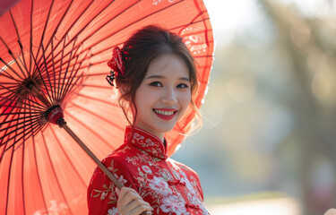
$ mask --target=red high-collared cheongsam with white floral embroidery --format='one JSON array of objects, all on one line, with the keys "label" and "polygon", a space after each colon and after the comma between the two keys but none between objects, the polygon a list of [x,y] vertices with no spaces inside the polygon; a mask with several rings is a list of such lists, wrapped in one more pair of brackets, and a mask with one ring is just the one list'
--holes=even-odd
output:
[{"label": "red high-collared cheongsam with white floral embroidery", "polygon": [[[121,184],[134,188],[154,209],[153,214],[210,214],[204,206],[202,188],[191,168],[168,159],[165,144],[156,136],[128,126],[125,144],[102,160]],[[99,169],[88,188],[90,215],[119,214],[118,189]]]}]

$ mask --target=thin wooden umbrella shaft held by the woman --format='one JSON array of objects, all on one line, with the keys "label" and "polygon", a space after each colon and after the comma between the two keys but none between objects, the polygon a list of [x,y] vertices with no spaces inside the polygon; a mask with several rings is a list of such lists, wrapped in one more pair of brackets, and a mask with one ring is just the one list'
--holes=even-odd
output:
[{"label": "thin wooden umbrella shaft held by the woman", "polygon": [[[77,142],[81,147],[82,150],[85,150],[85,152],[90,156],[91,159],[99,166],[99,168],[108,176],[108,178],[117,186],[117,188],[121,189],[124,185],[122,185],[115,176],[112,175],[112,173],[100,162],[100,160],[97,158],[96,155],[93,154],[93,152],[82,142],[82,140],[73,133],[73,130],[71,130],[68,125],[64,122],[62,123],[62,126],[67,133],[70,134],[70,136],[73,137],[73,140]],[[151,211],[144,211],[141,213],[141,215],[151,215]]]}]

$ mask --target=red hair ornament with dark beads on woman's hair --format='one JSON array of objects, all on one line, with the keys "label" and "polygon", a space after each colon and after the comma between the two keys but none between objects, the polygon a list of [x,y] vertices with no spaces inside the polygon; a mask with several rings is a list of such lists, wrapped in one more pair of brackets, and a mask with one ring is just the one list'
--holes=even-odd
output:
[{"label": "red hair ornament with dark beads on woman's hair", "polygon": [[119,73],[125,73],[125,64],[119,47],[113,48],[112,58],[108,61],[111,73],[107,75],[107,80],[111,86],[115,86],[114,81]]}]

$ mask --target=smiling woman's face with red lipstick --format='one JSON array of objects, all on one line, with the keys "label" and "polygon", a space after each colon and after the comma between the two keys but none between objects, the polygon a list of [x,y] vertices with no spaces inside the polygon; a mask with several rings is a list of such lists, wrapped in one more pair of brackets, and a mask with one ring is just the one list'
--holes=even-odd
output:
[{"label": "smiling woman's face with red lipstick", "polygon": [[191,101],[189,70],[175,54],[154,58],[135,92],[138,118],[135,125],[163,141],[185,114]]}]

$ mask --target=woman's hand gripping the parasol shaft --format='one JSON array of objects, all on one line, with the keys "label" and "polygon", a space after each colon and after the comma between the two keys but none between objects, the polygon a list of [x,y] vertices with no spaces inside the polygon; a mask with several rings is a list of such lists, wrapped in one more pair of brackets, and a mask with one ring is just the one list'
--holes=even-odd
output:
[{"label": "woman's hand gripping the parasol shaft", "polygon": [[151,205],[144,202],[139,193],[129,187],[121,188],[116,207],[122,215],[139,215],[144,211],[153,211]]}]

